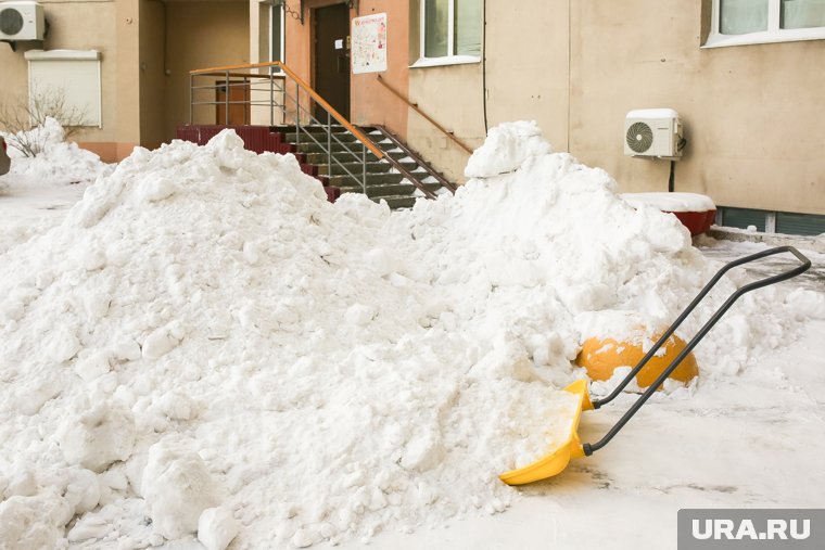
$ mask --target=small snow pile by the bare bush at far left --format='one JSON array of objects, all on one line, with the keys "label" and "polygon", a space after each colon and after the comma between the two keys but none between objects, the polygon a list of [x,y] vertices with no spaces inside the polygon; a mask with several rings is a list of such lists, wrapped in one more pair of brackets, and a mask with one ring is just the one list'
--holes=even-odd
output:
[{"label": "small snow pile by the bare bush at far left", "polygon": [[[9,146],[12,158],[10,176],[24,177],[35,183],[65,186],[82,181],[93,181],[100,176],[112,171],[112,166],[102,163],[100,157],[90,151],[77,146],[77,143],[65,141],[65,132],[58,120],[47,117],[42,126],[21,132],[24,143],[37,144],[40,152],[35,157],[27,157],[17,149]],[[3,133],[7,143],[12,143],[12,136]],[[15,183],[20,178],[15,178]]]}]

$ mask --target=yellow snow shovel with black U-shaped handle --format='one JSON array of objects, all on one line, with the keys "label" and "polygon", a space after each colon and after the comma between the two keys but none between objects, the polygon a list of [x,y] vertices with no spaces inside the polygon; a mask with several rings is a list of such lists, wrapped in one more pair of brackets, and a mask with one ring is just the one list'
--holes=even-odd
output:
[{"label": "yellow snow shovel with black U-shaped handle", "polygon": [[[673,359],[673,361],[671,361],[668,368],[665,368],[661,372],[661,374],[653,381],[653,383],[650,384],[645,389],[642,396],[639,396],[639,398],[631,406],[631,408],[627,409],[624,415],[621,419],[619,419],[619,421],[613,425],[613,427],[611,427],[610,431],[608,431],[608,433],[598,442],[593,443],[593,444],[591,443],[582,444],[581,439],[579,438],[579,433],[578,433],[579,420],[582,415],[582,411],[598,409],[602,405],[607,405],[608,402],[615,399],[615,397],[619,394],[621,394],[622,389],[624,389],[624,387],[627,384],[630,384],[630,382],[636,376],[638,371],[642,370],[642,368],[647,363],[647,361],[650,360],[650,358],[656,355],[659,348],[676,331],[676,329],[682,324],[682,322],[687,318],[687,316],[690,315],[694,308],[705,298],[705,296],[716,284],[716,282],[719,282],[722,276],[724,276],[731,269],[741,266],[744,264],[749,264],[751,261],[765,258],[767,256],[774,256],[776,254],[783,254],[786,252],[796,256],[797,259],[799,259],[800,265],[795,267],[794,269],[784,271],[779,274],[766,277],[764,279],[760,279],[754,282],[748,283],[741,286],[740,289],[736,290],[733,294],[731,294],[731,296],[725,300],[725,303],[722,304],[722,306],[719,309],[716,309],[716,311],[713,314],[710,320],[707,323],[705,323],[705,325],[701,329],[699,329],[699,332],[697,332],[696,335],[690,340],[690,342],[687,343],[685,348]],[[716,324],[716,322],[722,318],[725,311],[727,311],[731,308],[731,306],[733,306],[734,302],[736,302],[742,294],[757,290],[757,289],[761,289],[762,286],[767,286],[770,284],[778,283],[779,281],[791,279],[800,273],[803,273],[810,267],[811,267],[811,260],[808,259],[805,256],[803,256],[799,251],[797,251],[792,246],[779,246],[776,248],[771,248],[771,250],[763,251],[757,254],[751,254],[750,256],[745,256],[742,258],[731,261],[729,264],[726,264],[722,269],[720,269],[716,272],[715,276],[713,276],[710,282],[708,282],[708,284],[705,285],[705,287],[694,298],[690,305],[687,306],[684,311],[682,311],[682,314],[678,316],[678,318],[676,318],[673,324],[670,325],[670,328],[661,335],[659,341],[656,344],[653,344],[653,346],[645,355],[645,357],[643,357],[642,360],[638,362],[638,364],[636,364],[636,367],[634,367],[633,370],[630,373],[627,373],[627,375],[612,391],[610,395],[608,395],[604,399],[591,400],[587,381],[585,380],[578,380],[564,388],[564,391],[570,392],[571,394],[575,395],[579,398],[579,404],[576,406],[576,409],[571,422],[570,436],[568,437],[567,442],[564,442],[561,446],[559,446],[555,450],[545,455],[543,458],[536,460],[532,464],[528,464],[524,468],[505,472],[500,474],[498,477],[508,485],[523,485],[525,483],[532,483],[538,479],[545,479],[547,477],[553,477],[554,475],[561,473],[567,468],[571,459],[589,457],[595,451],[602,448],[605,445],[607,445],[610,442],[610,439],[612,439],[615,436],[617,433],[619,433],[619,431],[622,427],[624,427],[627,421],[631,418],[633,418],[633,415],[642,408],[643,405],[645,405],[645,402],[650,398],[650,396],[656,393],[659,386],[661,386],[664,383],[664,380],[668,376],[670,376],[670,374],[676,369],[676,367],[678,367],[682,360],[696,347],[696,345],[705,337],[706,334],[708,334],[708,332],[713,328],[713,325]]]}]

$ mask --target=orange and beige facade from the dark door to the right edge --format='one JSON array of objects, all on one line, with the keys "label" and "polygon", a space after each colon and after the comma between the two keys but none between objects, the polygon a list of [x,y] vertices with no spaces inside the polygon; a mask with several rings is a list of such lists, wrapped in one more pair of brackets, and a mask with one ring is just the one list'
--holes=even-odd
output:
[{"label": "orange and beige facade from the dark door to the right edge", "polygon": [[[316,87],[327,78],[316,50],[330,37],[316,36],[315,22],[335,4],[285,2],[280,54]],[[251,15],[262,5],[252,0]],[[673,108],[687,140],[676,191],[708,194],[732,214],[825,214],[822,0],[346,5],[351,20],[386,14],[389,49],[385,71],[350,75],[352,120],[388,126],[453,179],[468,154],[385,85],[471,146],[496,124],[536,120],[557,150],[627,192],[667,191],[671,167],[624,154],[625,115]]]}]

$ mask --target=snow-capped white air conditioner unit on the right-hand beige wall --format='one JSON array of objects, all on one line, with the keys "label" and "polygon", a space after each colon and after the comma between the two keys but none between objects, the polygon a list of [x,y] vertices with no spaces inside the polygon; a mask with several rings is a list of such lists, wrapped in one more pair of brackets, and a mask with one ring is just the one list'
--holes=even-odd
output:
[{"label": "snow-capped white air conditioner unit on the right-hand beige wall", "polygon": [[624,154],[676,159],[684,140],[678,114],[672,108],[631,111],[624,118]]}]

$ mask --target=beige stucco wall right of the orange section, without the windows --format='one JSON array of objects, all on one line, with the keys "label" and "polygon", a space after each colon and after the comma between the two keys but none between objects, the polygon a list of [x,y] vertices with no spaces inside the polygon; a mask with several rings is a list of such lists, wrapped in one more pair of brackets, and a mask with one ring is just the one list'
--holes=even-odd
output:
[{"label": "beige stucco wall right of the orange section, without the windows", "polygon": [[[631,110],[672,107],[688,139],[677,191],[825,214],[825,72],[814,68],[825,40],[702,49],[709,10],[708,0],[488,1],[488,125],[537,120],[556,149],[606,168],[622,191],[665,191],[669,163],[625,156],[623,125]],[[473,143],[483,133],[481,75],[479,65],[414,68],[409,95]],[[458,174],[461,155],[409,116],[410,142]]]}]

